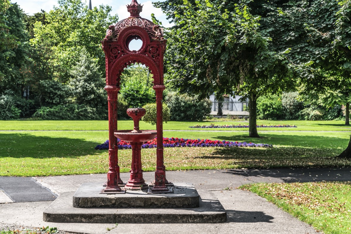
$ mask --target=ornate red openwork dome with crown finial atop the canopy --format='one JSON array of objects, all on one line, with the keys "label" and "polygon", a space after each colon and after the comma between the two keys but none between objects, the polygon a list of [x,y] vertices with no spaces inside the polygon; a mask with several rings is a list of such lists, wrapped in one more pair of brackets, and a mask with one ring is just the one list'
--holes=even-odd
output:
[{"label": "ornate red openwork dome with crown finial atop the canopy", "polygon": [[164,40],[163,30],[159,25],[155,25],[150,20],[141,18],[139,13],[142,11],[143,6],[138,4],[137,0],[132,0],[130,5],[127,5],[128,12],[131,16],[127,19],[119,21],[116,25],[111,25],[106,31],[105,41],[116,41],[120,32],[131,26],[139,26],[144,28],[149,34],[151,40]]}]

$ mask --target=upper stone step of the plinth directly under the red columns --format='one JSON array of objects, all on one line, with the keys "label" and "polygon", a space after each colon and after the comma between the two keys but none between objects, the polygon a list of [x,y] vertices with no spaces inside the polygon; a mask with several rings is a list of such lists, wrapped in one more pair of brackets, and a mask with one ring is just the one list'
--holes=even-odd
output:
[{"label": "upper stone step of the plinth directly under the red columns", "polygon": [[84,183],[73,195],[76,208],[196,208],[200,196],[190,183],[177,183],[173,193],[149,194],[146,190],[126,190],[125,194],[100,193],[102,183]]}]

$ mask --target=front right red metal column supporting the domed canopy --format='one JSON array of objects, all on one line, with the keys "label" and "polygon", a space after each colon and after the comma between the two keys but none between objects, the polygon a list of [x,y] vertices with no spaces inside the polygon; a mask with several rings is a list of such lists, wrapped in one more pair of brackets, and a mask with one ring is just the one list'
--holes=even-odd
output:
[{"label": "front right red metal column supporting the domed canopy", "polygon": [[156,172],[155,183],[152,192],[168,191],[166,187],[166,172],[163,162],[163,116],[162,116],[162,99],[164,85],[155,85],[153,89],[156,91],[156,108],[157,108],[157,149],[156,149]]}]

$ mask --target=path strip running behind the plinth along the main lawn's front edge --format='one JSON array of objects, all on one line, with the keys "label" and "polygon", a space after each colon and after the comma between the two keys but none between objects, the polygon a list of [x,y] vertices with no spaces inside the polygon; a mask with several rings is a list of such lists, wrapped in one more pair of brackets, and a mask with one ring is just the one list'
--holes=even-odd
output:
[{"label": "path strip running behind the plinth along the main lawn's front edge", "polygon": [[[235,188],[257,182],[315,182],[351,181],[351,168],[273,168],[273,169],[224,169],[198,171],[167,171],[166,178],[173,183],[193,183],[198,191]],[[41,185],[56,194],[76,191],[82,183],[106,181],[106,174],[64,175],[34,177]],[[154,172],[143,172],[147,183],[154,180]],[[121,173],[127,181],[129,173]]]}]

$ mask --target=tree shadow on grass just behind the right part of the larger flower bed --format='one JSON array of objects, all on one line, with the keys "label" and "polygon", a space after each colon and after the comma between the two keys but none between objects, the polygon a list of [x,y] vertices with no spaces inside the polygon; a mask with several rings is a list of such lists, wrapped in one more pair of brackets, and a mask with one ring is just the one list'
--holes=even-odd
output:
[{"label": "tree shadow on grass just behind the right part of the larger flower bed", "polygon": [[[345,149],[349,143],[349,138],[331,137],[325,133],[325,136],[316,135],[283,135],[283,134],[260,134],[263,138],[249,138],[247,135],[233,135],[233,136],[214,136],[213,138],[226,141],[246,141],[253,143],[266,143],[283,146],[300,146],[309,148],[334,148],[341,147]],[[340,151],[341,153],[342,151]]]}]

